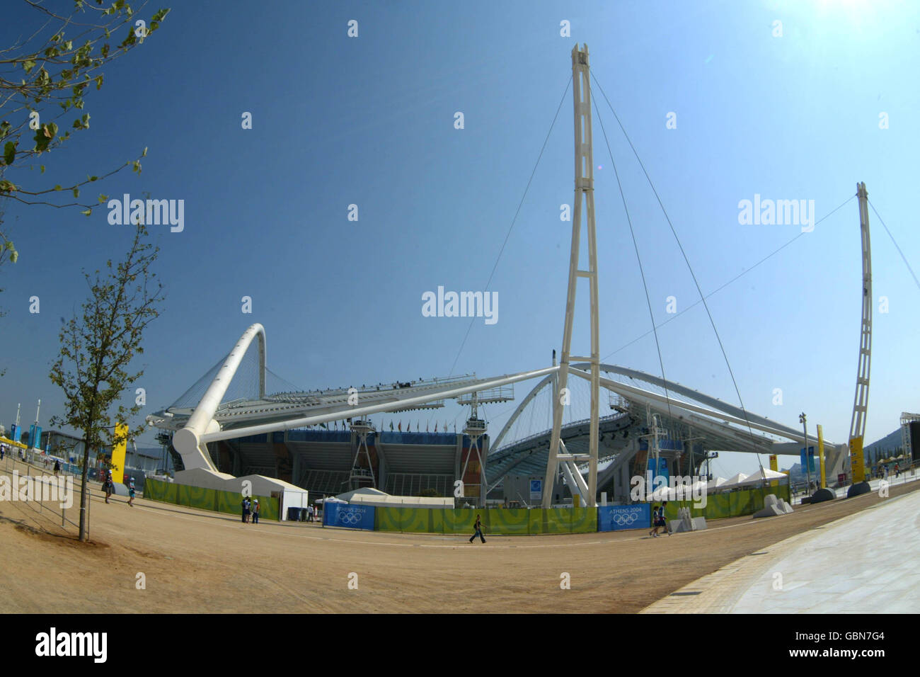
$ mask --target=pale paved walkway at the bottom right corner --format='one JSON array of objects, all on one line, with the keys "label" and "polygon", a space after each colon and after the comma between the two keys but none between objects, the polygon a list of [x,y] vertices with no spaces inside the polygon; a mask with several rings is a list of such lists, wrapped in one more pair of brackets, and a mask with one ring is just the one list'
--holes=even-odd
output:
[{"label": "pale paved walkway at the bottom right corner", "polygon": [[742,557],[642,613],[920,613],[917,562],[920,492]]}]

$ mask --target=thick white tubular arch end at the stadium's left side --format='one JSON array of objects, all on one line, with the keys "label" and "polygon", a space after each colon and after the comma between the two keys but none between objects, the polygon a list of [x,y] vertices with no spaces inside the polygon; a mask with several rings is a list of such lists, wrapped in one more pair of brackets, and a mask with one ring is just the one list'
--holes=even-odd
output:
[{"label": "thick white tubular arch end at the stadium's left side", "polygon": [[208,390],[204,391],[201,396],[201,402],[195,407],[195,411],[189,417],[185,427],[176,431],[173,436],[173,447],[182,456],[182,462],[185,463],[186,470],[192,468],[207,468],[216,472],[213,461],[201,449],[201,435],[206,432],[213,432],[214,412],[224,399],[230,381],[236,374],[236,369],[246,355],[249,345],[254,338],[259,338],[259,398],[265,397],[265,328],[256,322],[250,324],[247,330],[239,337],[230,354],[227,356],[224,366],[221,367]]}]

